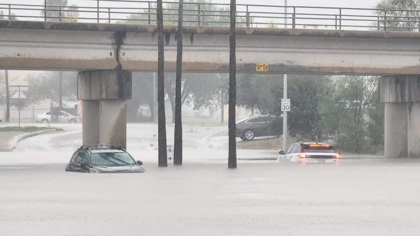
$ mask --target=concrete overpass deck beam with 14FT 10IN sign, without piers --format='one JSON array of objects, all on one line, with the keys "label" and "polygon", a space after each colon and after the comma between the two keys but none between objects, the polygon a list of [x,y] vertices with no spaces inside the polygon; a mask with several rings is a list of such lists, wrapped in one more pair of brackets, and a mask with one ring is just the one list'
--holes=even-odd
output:
[{"label": "concrete overpass deck beam with 14FT 10IN sign, without piers", "polygon": [[[183,69],[227,72],[229,29],[185,27]],[[0,68],[20,70],[157,70],[156,27],[0,21]],[[165,27],[165,69],[175,70],[176,27]],[[238,72],[420,74],[413,32],[237,29]]]}]

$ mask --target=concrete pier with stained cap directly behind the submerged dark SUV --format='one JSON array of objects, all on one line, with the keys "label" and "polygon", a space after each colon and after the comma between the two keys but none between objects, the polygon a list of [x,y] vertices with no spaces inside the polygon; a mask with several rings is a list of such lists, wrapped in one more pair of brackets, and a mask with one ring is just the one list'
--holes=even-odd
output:
[{"label": "concrete pier with stained cap directly behind the submerged dark SUV", "polygon": [[131,72],[79,72],[77,98],[83,100],[83,144],[126,147],[126,99],[131,99]]}]

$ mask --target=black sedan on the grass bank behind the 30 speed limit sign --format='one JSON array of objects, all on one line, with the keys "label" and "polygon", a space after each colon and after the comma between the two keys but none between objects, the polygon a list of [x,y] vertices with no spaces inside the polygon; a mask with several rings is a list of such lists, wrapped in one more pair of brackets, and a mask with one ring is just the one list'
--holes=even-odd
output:
[{"label": "black sedan on the grass bank behind the 30 speed limit sign", "polygon": [[277,127],[279,120],[276,116],[251,116],[236,122],[236,137],[242,140],[253,140],[255,137],[272,136],[279,134]]}]

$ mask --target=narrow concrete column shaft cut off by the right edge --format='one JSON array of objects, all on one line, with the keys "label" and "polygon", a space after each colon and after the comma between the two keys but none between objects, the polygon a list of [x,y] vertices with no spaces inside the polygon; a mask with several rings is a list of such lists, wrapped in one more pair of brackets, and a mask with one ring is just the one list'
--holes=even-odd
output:
[{"label": "narrow concrete column shaft cut off by the right edge", "polygon": [[408,157],[420,158],[420,102],[409,102],[408,110]]}]

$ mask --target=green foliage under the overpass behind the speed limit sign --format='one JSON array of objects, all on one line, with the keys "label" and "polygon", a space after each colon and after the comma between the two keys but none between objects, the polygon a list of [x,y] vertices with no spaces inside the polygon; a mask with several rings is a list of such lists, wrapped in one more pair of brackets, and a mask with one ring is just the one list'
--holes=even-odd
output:
[{"label": "green foliage under the overpass behind the speed limit sign", "polygon": [[[238,75],[238,105],[280,117],[282,97],[281,77]],[[309,142],[318,136],[351,153],[375,153],[383,146],[384,109],[378,100],[378,78],[289,75],[288,97],[292,138]]]}]

